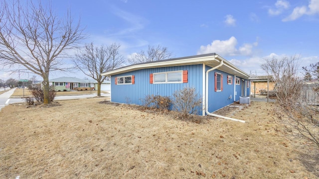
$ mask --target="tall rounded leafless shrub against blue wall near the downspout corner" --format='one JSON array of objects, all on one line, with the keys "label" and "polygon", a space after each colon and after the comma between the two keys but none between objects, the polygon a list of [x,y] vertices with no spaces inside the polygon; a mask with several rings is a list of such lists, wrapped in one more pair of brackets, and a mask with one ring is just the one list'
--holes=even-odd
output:
[{"label": "tall rounded leafless shrub against blue wall near the downspout corner", "polygon": [[173,105],[174,109],[178,111],[182,118],[188,117],[190,114],[197,112],[197,107],[202,103],[201,97],[196,93],[195,88],[185,87],[183,89],[176,90],[173,93]]}]

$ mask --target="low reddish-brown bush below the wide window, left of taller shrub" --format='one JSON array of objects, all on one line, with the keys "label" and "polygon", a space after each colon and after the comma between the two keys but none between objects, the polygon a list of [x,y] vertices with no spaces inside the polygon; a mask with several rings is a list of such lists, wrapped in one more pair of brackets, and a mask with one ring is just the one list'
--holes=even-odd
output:
[{"label": "low reddish-brown bush below the wide window, left of taller shrub", "polygon": [[171,100],[168,96],[161,95],[146,95],[142,101],[143,105],[151,108],[158,108],[160,110],[168,110]]}]

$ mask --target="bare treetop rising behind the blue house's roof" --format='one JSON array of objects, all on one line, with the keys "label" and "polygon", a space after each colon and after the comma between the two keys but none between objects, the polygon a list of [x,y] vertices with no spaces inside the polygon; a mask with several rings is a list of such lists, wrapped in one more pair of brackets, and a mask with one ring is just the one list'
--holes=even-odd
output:
[{"label": "bare treetop rising behind the blue house's roof", "polygon": [[149,45],[147,54],[144,52],[144,50],[142,50],[140,53],[134,53],[131,55],[131,58],[129,58],[128,62],[130,64],[153,62],[169,59],[171,56],[172,55],[170,52],[168,52],[167,47],[160,47],[160,45],[155,47]]}]

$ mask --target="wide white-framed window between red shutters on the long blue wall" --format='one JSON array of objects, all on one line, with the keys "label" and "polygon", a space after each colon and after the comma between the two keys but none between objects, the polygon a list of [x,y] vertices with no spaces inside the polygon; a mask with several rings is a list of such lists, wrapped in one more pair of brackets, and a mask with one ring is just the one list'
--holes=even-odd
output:
[{"label": "wide white-framed window between red shutters on the long blue wall", "polygon": [[161,72],[153,74],[154,83],[183,83],[183,71]]}]

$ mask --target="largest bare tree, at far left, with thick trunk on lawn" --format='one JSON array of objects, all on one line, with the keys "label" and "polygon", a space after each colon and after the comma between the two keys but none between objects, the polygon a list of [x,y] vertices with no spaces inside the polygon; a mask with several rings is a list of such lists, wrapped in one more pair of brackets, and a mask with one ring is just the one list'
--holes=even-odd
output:
[{"label": "largest bare tree, at far left, with thick trunk on lawn", "polygon": [[0,9],[0,64],[42,77],[43,103],[49,104],[50,72],[67,70],[64,58],[85,38],[80,21],[74,22],[69,11],[58,18],[41,1],[1,1]]}]

